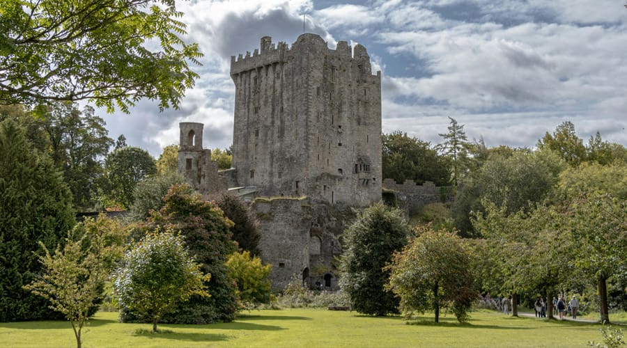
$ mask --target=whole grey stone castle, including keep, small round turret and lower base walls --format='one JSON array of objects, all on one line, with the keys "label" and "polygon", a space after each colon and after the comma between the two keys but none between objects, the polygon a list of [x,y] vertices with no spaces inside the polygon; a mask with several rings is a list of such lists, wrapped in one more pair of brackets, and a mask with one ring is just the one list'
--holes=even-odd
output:
[{"label": "whole grey stone castle, including keep, small round turret and lower base walls", "polygon": [[306,33],[291,47],[261,38],[253,54],[231,57],[231,78],[233,168],[218,173],[202,148],[203,125],[181,122],[179,171],[203,195],[254,192],[274,288],[299,274],[335,289],[350,208],[381,199],[381,74],[362,45],[329,49]]}]

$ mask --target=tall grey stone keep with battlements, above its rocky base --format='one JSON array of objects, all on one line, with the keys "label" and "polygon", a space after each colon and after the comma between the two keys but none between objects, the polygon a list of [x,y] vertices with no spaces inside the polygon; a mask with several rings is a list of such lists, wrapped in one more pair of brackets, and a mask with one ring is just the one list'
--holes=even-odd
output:
[{"label": "tall grey stone keep with battlements, above its rocky base", "polygon": [[365,47],[329,49],[311,33],[275,47],[265,36],[261,50],[231,57],[231,78],[241,186],[331,204],[380,200],[381,74]]}]

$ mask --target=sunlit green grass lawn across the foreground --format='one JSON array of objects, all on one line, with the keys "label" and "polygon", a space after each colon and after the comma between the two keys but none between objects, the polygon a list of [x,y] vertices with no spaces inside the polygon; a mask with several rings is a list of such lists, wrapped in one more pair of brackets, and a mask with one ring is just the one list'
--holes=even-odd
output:
[{"label": "sunlit green grass lawn across the foreground", "polygon": [[[585,347],[599,342],[598,324],[504,317],[479,310],[469,324],[453,315],[406,324],[401,317],[366,317],[320,309],[257,310],[235,322],[159,326],[120,324],[101,312],[83,347]],[[0,323],[0,347],[76,347],[69,322]]]}]

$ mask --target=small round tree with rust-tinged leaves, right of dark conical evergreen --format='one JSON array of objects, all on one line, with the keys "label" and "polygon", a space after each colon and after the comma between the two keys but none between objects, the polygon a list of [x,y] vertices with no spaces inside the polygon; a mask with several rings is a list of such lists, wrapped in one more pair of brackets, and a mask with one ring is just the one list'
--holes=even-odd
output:
[{"label": "small round tree with rust-tinged leaves, right of dark conical evergreen", "polygon": [[405,317],[434,310],[437,323],[440,308],[450,304],[458,322],[467,322],[468,310],[479,292],[461,238],[431,227],[417,227],[415,235],[385,267],[390,273],[386,288],[401,297]]}]

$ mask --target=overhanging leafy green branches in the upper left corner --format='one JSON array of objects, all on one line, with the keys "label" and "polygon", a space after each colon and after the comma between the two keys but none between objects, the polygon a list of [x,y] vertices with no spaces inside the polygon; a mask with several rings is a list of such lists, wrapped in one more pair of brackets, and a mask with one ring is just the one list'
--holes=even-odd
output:
[{"label": "overhanging leafy green branches in the upper left corner", "polygon": [[[173,0],[3,1],[0,104],[93,100],[128,112],[142,97],[178,107],[198,74]],[[153,48],[155,47],[155,48]]]}]

